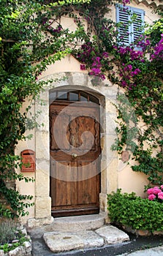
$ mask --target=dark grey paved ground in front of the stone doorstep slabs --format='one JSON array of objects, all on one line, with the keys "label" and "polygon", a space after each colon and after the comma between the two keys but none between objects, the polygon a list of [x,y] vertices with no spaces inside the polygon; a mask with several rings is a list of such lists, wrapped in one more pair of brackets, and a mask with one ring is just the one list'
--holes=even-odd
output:
[{"label": "dark grey paved ground in front of the stone doorstep slabs", "polygon": [[[32,255],[33,256],[114,256],[114,255],[131,255],[131,256],[161,256],[163,255],[162,237],[135,239],[133,241],[114,244],[111,246],[103,246],[101,248],[91,248],[83,250],[75,250],[72,252],[53,253],[50,252],[45,243],[40,238],[32,239]],[[151,249],[145,249],[150,246],[157,246]],[[136,252],[133,252],[136,251]],[[135,254],[136,253],[136,254]]]}]

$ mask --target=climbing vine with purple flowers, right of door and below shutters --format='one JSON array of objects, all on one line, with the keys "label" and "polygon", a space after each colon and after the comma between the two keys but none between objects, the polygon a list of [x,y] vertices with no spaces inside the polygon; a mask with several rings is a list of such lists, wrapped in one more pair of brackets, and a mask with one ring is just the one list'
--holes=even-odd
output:
[{"label": "climbing vine with purple flowers, right of door and below shutters", "polygon": [[[126,3],[129,1],[123,1]],[[120,121],[112,149],[119,154],[124,149],[130,151],[135,163],[132,170],[145,173],[149,186],[162,184],[163,172],[162,10],[159,15],[161,18],[130,45],[117,39],[121,24],[96,15],[93,40],[87,39],[76,53],[83,63],[81,69],[102,80],[109,78],[124,90],[125,97],[118,96]],[[134,22],[134,16],[132,19]]]}]

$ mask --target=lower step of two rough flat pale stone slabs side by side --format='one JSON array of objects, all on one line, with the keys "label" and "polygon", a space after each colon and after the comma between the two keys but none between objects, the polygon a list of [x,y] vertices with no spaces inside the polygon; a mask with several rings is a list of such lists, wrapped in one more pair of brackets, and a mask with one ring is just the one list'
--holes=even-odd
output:
[{"label": "lower step of two rough flat pale stone slabs side by side", "polygon": [[96,230],[60,231],[44,233],[45,244],[52,252],[68,252],[75,249],[88,249],[108,244],[129,241],[129,236],[112,225],[105,225]]}]

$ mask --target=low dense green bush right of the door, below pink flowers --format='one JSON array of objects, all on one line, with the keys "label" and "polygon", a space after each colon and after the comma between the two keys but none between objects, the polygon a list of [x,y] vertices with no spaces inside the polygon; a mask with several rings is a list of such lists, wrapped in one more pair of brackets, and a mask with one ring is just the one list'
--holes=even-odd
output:
[{"label": "low dense green bush right of the door, below pink flowers", "polygon": [[150,201],[121,189],[107,195],[107,206],[111,223],[129,226],[134,230],[163,230],[163,203]]}]

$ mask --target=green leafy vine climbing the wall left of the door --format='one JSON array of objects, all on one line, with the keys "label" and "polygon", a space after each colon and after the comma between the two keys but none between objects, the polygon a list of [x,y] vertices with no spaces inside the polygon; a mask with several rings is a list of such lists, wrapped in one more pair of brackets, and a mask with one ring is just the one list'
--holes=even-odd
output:
[{"label": "green leafy vine climbing the wall left of the door", "polygon": [[[43,4],[43,1],[1,1],[0,7],[0,217],[18,217],[29,214],[33,206],[30,195],[20,195],[9,183],[34,181],[15,173],[21,167],[20,156],[15,155],[19,140],[26,140],[24,132],[37,126],[36,116],[27,117],[32,101],[51,82],[38,80],[49,64],[71,53],[69,42],[77,37],[58,26],[61,8],[88,1],[63,1]],[[49,5],[50,4],[50,5]],[[62,6],[62,7],[61,7]],[[50,18],[56,15],[56,31]],[[57,30],[58,29],[58,30]],[[67,35],[67,37],[65,37]],[[35,63],[35,65],[34,65]],[[24,113],[20,112],[26,98],[31,99]],[[29,136],[30,137],[30,136]]]}]

